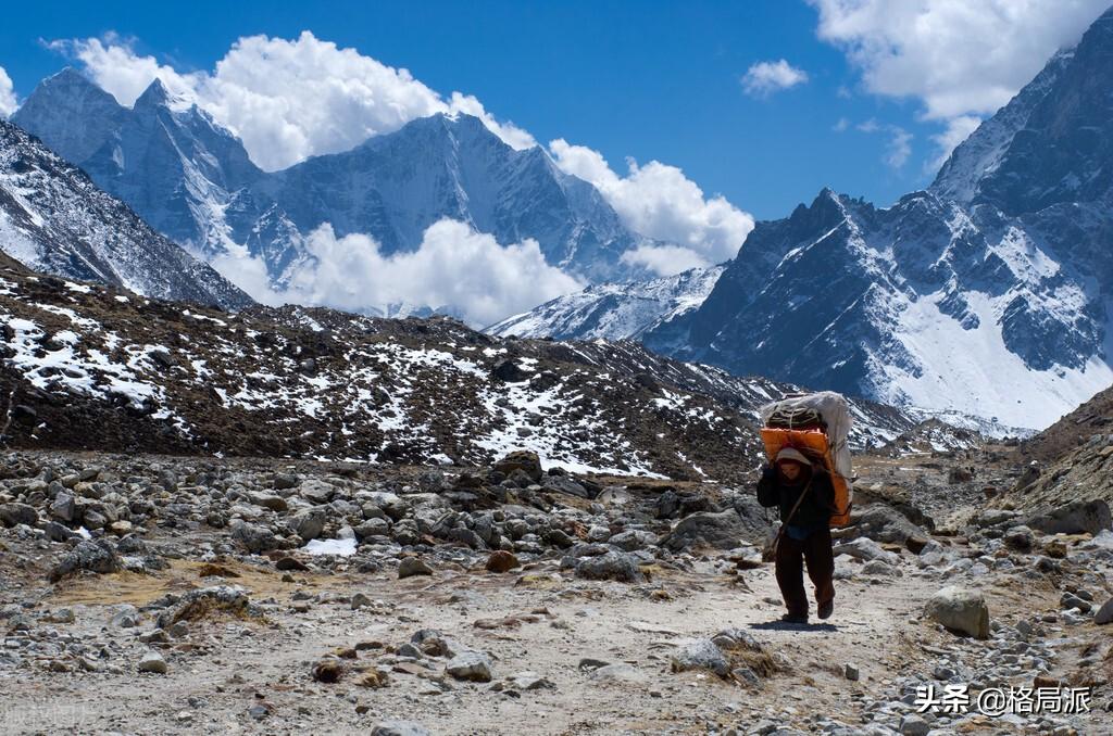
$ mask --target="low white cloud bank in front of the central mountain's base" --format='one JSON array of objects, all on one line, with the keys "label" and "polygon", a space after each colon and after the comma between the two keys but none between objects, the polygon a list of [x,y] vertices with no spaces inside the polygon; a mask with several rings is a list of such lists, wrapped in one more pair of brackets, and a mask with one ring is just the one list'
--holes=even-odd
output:
[{"label": "low white cloud bank in front of the central mountain's base", "polygon": [[266,267],[243,250],[218,257],[213,266],[264,304],[359,312],[407,302],[450,307],[475,326],[584,286],[549,266],[535,240],[502,246],[455,220],[432,225],[416,250],[388,256],[367,236],[336,237],[328,223],[311,232],[305,245],[312,260],[295,270],[280,292],[268,286]]}]

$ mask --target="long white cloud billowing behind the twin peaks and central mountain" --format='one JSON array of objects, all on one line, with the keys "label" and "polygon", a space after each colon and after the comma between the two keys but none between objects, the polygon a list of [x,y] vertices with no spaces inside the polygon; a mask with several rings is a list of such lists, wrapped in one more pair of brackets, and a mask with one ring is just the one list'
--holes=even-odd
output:
[{"label": "long white cloud billowing behind the twin peaks and central mountain", "polygon": [[437,112],[475,115],[508,145],[534,145],[529,133],[498,122],[474,97],[453,92],[445,100],[407,70],[309,31],[295,40],[240,38],[211,72],[178,72],[112,34],[50,47],[78,59],[121,105],[132,105],[160,79],[170,92],[196,102],[239,136],[252,160],[270,171],[309,156],[348,150]]}]

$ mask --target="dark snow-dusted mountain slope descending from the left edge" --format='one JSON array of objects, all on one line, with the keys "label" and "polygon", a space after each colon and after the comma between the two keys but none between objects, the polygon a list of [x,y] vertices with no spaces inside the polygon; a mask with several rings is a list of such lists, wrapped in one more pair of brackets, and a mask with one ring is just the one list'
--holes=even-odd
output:
[{"label": "dark snow-dusted mountain slope descending from the left edge", "polygon": [[0,120],[0,249],[26,266],[225,309],[250,298],[80,169]]}]

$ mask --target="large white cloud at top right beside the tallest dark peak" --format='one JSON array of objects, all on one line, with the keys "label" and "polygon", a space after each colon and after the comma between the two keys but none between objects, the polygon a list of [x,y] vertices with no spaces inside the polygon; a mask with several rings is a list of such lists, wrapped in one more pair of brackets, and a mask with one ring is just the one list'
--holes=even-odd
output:
[{"label": "large white cloud at top right beside the tallest dark peak", "polygon": [[1110,0],[810,0],[819,38],[846,52],[866,89],[914,97],[947,120],[992,113]]}]

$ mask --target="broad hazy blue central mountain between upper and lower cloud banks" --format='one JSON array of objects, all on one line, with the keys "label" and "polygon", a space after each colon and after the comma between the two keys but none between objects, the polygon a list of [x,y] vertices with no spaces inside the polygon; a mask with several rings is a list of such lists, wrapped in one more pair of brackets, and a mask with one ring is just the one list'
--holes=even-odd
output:
[{"label": "broad hazy blue central mountain between upper and lower cloud banks", "polygon": [[418,118],[259,189],[301,232],[329,222],[339,237],[373,236],[387,253],[416,248],[426,228],[450,218],[501,243],[532,238],[549,263],[599,280],[631,273],[619,259],[642,240],[540,147],[514,150],[467,115]]}]

